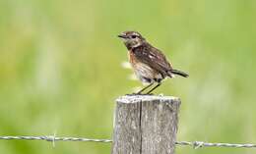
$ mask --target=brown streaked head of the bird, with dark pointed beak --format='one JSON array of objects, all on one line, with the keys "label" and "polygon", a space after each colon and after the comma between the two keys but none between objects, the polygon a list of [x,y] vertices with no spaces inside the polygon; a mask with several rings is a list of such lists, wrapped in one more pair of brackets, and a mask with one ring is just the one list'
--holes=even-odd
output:
[{"label": "brown streaked head of the bird, with dark pointed beak", "polygon": [[137,31],[124,31],[119,34],[118,37],[122,38],[128,49],[136,48],[146,41],[145,38]]}]

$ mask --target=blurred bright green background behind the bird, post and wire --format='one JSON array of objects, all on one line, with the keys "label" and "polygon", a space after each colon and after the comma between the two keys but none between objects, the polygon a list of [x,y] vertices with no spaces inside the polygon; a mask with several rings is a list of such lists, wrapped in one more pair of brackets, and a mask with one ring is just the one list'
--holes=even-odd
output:
[{"label": "blurred bright green background behind the bird, post and wire", "polygon": [[[111,138],[114,99],[141,85],[116,37],[135,29],[190,74],[157,90],[182,100],[178,140],[255,143],[255,17],[255,0],[0,0],[0,135]],[[110,144],[0,140],[0,153],[107,154]]]}]

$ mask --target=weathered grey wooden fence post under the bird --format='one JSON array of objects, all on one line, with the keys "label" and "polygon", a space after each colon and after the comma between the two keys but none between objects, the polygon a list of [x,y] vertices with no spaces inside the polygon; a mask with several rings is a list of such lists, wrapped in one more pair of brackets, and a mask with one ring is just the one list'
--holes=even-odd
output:
[{"label": "weathered grey wooden fence post under the bird", "polygon": [[174,154],[179,105],[170,96],[119,97],[112,154]]}]

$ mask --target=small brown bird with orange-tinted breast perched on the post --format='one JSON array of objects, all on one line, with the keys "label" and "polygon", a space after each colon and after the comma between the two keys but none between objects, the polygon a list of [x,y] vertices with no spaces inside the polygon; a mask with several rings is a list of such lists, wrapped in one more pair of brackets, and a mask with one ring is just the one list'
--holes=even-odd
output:
[{"label": "small brown bird with orange-tinted breast perched on the post", "polygon": [[122,38],[129,51],[129,61],[136,77],[143,82],[149,83],[149,85],[135,94],[142,94],[143,91],[157,82],[156,86],[145,93],[151,94],[152,91],[160,86],[161,80],[165,77],[174,77],[174,75],[188,77],[188,74],[172,69],[172,66],[160,50],[147,42],[139,32],[124,31],[118,37]]}]

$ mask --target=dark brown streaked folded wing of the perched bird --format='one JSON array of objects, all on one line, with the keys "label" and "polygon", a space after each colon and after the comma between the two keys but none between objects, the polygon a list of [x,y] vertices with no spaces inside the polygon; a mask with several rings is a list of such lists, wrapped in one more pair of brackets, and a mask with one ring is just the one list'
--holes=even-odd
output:
[{"label": "dark brown streaked folded wing of the perched bird", "polygon": [[151,45],[135,49],[134,54],[140,62],[149,65],[163,76],[165,76],[169,70],[172,70],[171,65],[160,50]]}]

